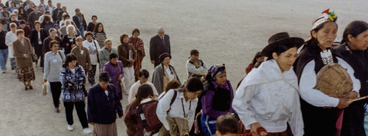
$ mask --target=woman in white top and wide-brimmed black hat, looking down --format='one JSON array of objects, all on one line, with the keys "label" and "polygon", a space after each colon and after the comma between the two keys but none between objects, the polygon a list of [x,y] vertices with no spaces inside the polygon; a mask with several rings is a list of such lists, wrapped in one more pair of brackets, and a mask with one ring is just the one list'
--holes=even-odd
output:
[{"label": "woman in white top and wide-brimmed black hat, looking down", "polygon": [[303,42],[286,32],[271,36],[261,52],[267,61],[253,69],[238,87],[233,109],[252,136],[287,135],[287,123],[294,136],[304,135],[298,78],[292,68]]}]

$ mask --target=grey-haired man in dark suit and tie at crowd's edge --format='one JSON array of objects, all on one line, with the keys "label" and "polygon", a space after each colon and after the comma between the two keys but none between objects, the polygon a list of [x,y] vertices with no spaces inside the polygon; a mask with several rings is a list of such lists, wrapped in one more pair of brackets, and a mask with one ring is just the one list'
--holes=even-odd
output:
[{"label": "grey-haired man in dark suit and tie at crowd's edge", "polygon": [[170,37],[165,34],[165,30],[163,27],[157,28],[157,35],[151,38],[149,42],[149,55],[151,57],[151,63],[153,65],[160,65],[159,57],[163,53],[168,53],[171,55],[170,48]]}]

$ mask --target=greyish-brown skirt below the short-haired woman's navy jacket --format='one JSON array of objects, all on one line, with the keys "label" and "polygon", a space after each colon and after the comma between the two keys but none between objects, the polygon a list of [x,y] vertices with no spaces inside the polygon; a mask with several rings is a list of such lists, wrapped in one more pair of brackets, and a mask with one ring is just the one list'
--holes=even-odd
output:
[{"label": "greyish-brown skirt below the short-haired woman's navy jacket", "polygon": [[93,125],[93,136],[117,136],[116,122],[113,124]]}]

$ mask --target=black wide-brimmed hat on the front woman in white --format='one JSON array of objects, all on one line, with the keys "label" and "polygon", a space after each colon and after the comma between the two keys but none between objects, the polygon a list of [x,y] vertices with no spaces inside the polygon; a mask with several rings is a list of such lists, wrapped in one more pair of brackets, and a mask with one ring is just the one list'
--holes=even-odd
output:
[{"label": "black wide-brimmed hat on the front woman in white", "polygon": [[304,40],[299,37],[289,37],[286,32],[277,33],[269,38],[269,44],[262,49],[261,55],[272,57],[273,52],[280,50],[281,46],[286,46],[287,49],[297,47],[300,48],[304,44]]}]

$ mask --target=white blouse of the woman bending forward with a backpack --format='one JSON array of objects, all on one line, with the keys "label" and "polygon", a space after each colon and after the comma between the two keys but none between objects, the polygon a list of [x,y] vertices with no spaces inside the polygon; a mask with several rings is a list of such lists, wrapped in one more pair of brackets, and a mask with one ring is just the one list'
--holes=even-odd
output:
[{"label": "white blouse of the woman bending forward with a backpack", "polygon": [[[170,102],[173,96],[174,96],[174,90],[171,89],[167,91],[166,95],[164,95],[160,99],[159,103],[157,104],[157,109],[156,109],[157,117],[162,122],[166,130],[170,130],[169,123],[167,123],[167,120],[166,120],[166,116],[169,116],[170,118],[183,118],[184,120],[188,121],[188,127],[190,131],[194,123],[194,116],[195,116],[194,114],[195,114],[195,109],[197,108],[198,98],[195,98],[194,100],[188,99],[188,101],[185,102],[184,93],[177,92],[176,99],[174,103],[170,106]],[[185,114],[188,114],[187,117],[184,117],[183,106],[181,103],[182,99],[183,99]],[[171,107],[170,112],[166,113],[170,107]]]}]

